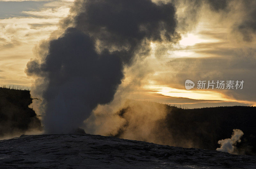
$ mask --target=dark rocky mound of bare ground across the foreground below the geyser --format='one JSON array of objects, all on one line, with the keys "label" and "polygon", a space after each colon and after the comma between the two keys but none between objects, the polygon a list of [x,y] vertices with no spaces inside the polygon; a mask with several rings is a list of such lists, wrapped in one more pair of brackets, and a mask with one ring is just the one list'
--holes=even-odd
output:
[{"label": "dark rocky mound of bare ground across the foreground below the geyser", "polygon": [[23,135],[0,141],[0,168],[255,168],[255,156],[99,135]]}]

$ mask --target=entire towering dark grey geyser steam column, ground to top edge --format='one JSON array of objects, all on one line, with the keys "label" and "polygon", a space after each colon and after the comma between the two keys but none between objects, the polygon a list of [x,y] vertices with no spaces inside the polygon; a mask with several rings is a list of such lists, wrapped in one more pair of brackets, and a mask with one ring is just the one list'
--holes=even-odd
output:
[{"label": "entire towering dark grey geyser steam column, ground to top edge", "polygon": [[46,56],[27,64],[27,75],[35,77],[32,93],[42,99],[47,133],[70,132],[98,104],[110,102],[124,65],[147,54],[151,41],[180,39],[171,3],[87,0],[76,1],[72,12],[73,26],[49,42]]}]

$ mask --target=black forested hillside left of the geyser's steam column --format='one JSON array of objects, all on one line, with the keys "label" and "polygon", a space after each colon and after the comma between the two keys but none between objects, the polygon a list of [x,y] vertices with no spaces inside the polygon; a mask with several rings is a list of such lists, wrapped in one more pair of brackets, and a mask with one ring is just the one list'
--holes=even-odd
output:
[{"label": "black forested hillside left of the geyser's steam column", "polygon": [[27,88],[0,87],[0,136],[23,134],[28,130],[42,130]]}]

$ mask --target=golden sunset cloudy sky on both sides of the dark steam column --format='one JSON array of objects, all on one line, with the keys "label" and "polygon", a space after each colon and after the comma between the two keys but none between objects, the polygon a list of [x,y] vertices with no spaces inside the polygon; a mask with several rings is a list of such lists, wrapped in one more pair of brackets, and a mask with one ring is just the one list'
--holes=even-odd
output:
[{"label": "golden sunset cloudy sky on both sides of the dark steam column", "polygon": [[[125,89],[126,98],[185,107],[256,105],[255,1],[171,2],[175,40],[152,40],[146,56],[124,66],[119,90]],[[0,0],[0,84],[32,85],[27,62],[38,55],[42,40],[61,30],[71,6],[72,0]],[[185,89],[187,79],[194,88]],[[199,80],[206,81],[205,89],[197,89]],[[206,89],[212,80],[243,80],[243,89]]]}]

